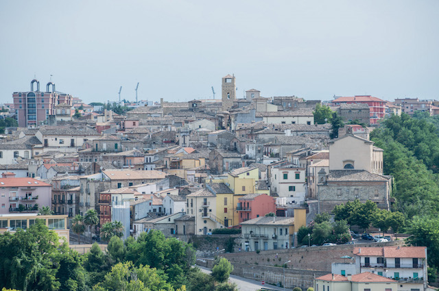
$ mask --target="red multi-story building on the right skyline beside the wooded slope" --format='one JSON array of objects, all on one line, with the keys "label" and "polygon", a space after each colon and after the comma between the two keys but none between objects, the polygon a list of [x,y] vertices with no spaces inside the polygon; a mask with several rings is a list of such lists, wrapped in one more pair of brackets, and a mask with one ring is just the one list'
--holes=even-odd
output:
[{"label": "red multi-story building on the right skyline beside the wooded slope", "polygon": [[352,103],[365,103],[369,106],[370,114],[370,125],[378,125],[379,121],[385,117],[385,103],[387,101],[381,100],[377,97],[372,97],[370,95],[365,96],[354,96],[354,97],[335,97],[331,101],[331,105],[340,106],[344,104]]}]

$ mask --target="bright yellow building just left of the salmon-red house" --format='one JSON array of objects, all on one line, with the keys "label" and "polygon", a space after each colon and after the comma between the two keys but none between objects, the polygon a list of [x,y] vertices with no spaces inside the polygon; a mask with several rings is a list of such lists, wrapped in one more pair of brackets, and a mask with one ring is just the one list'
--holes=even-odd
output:
[{"label": "bright yellow building just left of the salmon-red house", "polygon": [[[237,212],[239,198],[252,193],[270,194],[269,190],[258,190],[257,181],[259,181],[259,168],[250,167],[237,168],[230,171],[224,179],[212,179],[210,181],[211,191],[217,197],[216,216],[222,220],[224,219],[226,227],[239,225]],[[222,185],[217,186],[215,184]]]}]

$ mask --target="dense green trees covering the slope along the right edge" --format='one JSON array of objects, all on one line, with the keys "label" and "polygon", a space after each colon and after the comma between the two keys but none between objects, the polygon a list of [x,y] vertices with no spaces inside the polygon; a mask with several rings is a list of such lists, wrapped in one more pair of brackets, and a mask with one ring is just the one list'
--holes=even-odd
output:
[{"label": "dense green trees covering the slope along the right edge", "polygon": [[[439,266],[439,116],[416,112],[385,119],[370,138],[384,150],[384,174],[394,177],[393,207],[407,218],[408,242],[427,246]],[[393,226],[392,226],[393,228]]]}]

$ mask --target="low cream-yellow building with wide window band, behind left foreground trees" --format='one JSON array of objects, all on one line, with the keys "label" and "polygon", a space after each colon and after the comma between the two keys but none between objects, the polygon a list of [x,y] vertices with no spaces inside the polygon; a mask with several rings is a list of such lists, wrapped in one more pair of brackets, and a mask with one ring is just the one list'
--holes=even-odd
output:
[{"label": "low cream-yellow building with wide window band, behind left foreground trees", "polygon": [[43,219],[49,229],[54,230],[60,237],[69,243],[69,229],[67,229],[67,215],[38,215],[29,214],[0,214],[0,233],[15,232],[16,229],[27,229],[34,225],[36,219]]}]

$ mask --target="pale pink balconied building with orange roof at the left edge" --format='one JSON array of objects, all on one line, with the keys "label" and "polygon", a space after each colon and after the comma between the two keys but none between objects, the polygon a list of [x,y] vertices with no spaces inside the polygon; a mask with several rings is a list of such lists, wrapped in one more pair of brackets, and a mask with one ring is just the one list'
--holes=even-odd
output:
[{"label": "pale pink balconied building with orange roof at the left edge", "polygon": [[2,173],[0,187],[0,214],[38,212],[43,206],[51,207],[51,184]]}]

